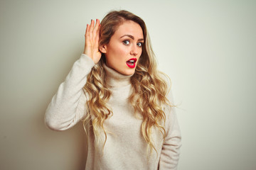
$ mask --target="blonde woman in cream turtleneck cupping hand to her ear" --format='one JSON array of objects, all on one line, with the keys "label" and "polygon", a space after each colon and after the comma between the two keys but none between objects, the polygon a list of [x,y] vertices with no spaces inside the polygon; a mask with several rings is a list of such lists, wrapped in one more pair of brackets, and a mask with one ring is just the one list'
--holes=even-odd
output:
[{"label": "blonde woman in cream turtleneck cupping hand to her ear", "polygon": [[[85,169],[177,169],[181,134],[144,21],[112,11],[87,24],[85,50],[46,110],[46,125],[84,120]],[[169,102],[170,101],[170,102]]]}]

